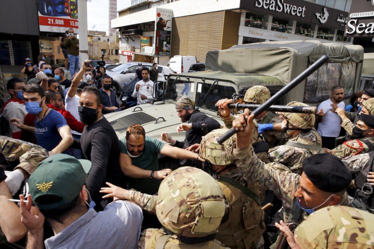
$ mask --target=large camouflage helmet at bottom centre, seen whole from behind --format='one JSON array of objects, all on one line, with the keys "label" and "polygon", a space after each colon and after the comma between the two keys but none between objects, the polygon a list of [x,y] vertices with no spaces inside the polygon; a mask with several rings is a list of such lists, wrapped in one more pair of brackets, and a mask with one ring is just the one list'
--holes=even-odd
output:
[{"label": "large camouflage helmet at bottom centre, seen whole from behind", "polygon": [[178,168],[160,184],[156,215],[161,224],[176,235],[206,237],[215,234],[224,213],[221,188],[201,169]]}]

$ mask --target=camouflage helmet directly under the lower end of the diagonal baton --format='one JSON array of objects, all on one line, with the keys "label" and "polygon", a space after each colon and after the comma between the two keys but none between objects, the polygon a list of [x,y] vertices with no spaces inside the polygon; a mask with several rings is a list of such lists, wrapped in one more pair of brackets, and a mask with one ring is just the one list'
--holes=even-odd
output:
[{"label": "camouflage helmet directly under the lower end of the diagonal baton", "polygon": [[[255,127],[256,126],[257,124],[255,123]],[[257,141],[258,129],[255,127],[251,134],[251,143]],[[202,159],[208,160],[211,164],[216,165],[230,165],[233,163],[232,158],[228,155],[230,154],[232,145],[235,143],[236,136],[231,136],[222,144],[217,142],[217,138],[223,135],[227,130],[227,128],[215,129],[202,137],[199,152],[199,156]]]}]

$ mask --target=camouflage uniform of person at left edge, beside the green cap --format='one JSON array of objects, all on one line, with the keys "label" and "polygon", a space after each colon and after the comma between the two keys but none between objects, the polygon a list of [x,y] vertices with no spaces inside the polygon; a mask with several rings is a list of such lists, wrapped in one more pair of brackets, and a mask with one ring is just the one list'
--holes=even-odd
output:
[{"label": "camouflage uniform of person at left edge, beside the green cap", "polygon": [[[0,153],[8,163],[19,164],[14,168],[23,169],[28,174],[34,172],[39,162],[48,157],[48,151],[33,143],[0,136]],[[6,243],[5,235],[0,230],[0,244]]]}]

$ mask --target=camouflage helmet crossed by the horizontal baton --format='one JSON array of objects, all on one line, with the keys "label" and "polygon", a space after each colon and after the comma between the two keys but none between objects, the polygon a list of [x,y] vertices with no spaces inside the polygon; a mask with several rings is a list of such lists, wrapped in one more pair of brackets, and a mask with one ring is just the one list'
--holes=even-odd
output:
[{"label": "camouflage helmet crossed by the horizontal baton", "polygon": [[[304,106],[309,107],[308,105],[301,103],[301,102],[290,102],[287,106]],[[314,114],[307,114],[307,113],[281,113],[286,120],[296,128],[299,129],[311,129],[314,127],[314,123],[316,121],[316,117]]]}]

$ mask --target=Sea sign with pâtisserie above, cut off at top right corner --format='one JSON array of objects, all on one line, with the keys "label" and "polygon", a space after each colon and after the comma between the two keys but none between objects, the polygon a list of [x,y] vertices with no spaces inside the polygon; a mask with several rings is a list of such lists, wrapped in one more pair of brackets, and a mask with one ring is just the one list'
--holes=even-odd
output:
[{"label": "Sea sign with p\u00e2tisserie above, cut off at top right corner", "polygon": [[355,4],[351,6],[349,17],[346,34],[353,36],[372,36],[374,34],[374,5],[372,1],[355,1]]}]

